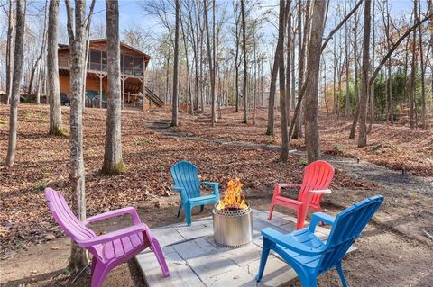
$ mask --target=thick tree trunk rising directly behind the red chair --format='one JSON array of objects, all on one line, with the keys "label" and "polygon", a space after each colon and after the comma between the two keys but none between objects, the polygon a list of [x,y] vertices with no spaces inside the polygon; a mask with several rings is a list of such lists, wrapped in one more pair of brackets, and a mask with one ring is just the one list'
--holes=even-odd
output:
[{"label": "thick tree trunk rising directly behind the red chair", "polygon": [[320,50],[323,38],[324,19],[327,1],[315,0],[313,20],[309,40],[307,75],[309,81],[305,91],[305,145],[309,162],[320,158],[320,139],[318,135],[318,73],[320,67]]}]

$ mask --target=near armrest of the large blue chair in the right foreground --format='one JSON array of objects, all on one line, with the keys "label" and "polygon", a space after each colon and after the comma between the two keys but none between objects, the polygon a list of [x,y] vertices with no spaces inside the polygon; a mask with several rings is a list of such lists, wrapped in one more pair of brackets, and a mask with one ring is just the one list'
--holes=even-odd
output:
[{"label": "near armrest of the large blue chair in the right foreground", "polygon": [[282,247],[286,247],[290,250],[298,252],[301,255],[317,256],[325,250],[325,246],[318,248],[308,247],[300,243],[299,241],[294,240],[290,237],[290,235],[284,235],[281,232],[278,232],[277,230],[272,228],[263,229],[261,233],[263,235],[263,238],[267,238],[272,242],[281,245]]}]

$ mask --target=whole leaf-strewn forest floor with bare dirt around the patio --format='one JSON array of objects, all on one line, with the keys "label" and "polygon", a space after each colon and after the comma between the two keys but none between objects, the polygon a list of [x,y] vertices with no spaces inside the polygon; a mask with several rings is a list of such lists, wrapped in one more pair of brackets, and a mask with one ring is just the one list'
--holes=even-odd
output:
[{"label": "whole leaf-strewn forest floor with bare dirt around the patio", "polygon": [[[69,108],[62,112],[63,121],[69,122]],[[209,127],[204,115],[191,117],[181,113],[180,127],[174,130],[162,129],[170,119],[168,110],[124,111],[123,153],[128,170],[124,175],[106,177],[99,175],[104,155],[105,113],[87,109],[84,114],[88,215],[134,206],[151,228],[180,222],[182,218],[175,217],[179,196],[170,191],[169,174],[170,166],[180,159],[194,162],[202,178],[220,182],[222,190],[228,178],[241,178],[248,202],[266,211],[273,183],[299,182],[306,164],[300,140],[293,141],[299,151],[290,153],[288,163],[277,160],[279,132],[275,138],[263,135],[264,110],[258,113],[255,127],[245,126],[240,122],[241,113],[229,110],[222,111],[223,119],[215,128]],[[8,114],[8,107],[0,105],[2,159],[7,149]],[[47,106],[20,105],[18,120],[15,165],[0,166],[0,284],[86,285],[90,278],[86,272],[77,279],[64,272],[69,239],[51,220],[43,196],[43,189],[50,186],[69,198],[69,139],[47,135]],[[155,121],[161,125],[158,127]],[[432,130],[377,124],[373,126],[373,140],[360,150],[355,148],[355,141],[347,139],[349,121],[321,119],[320,122],[325,157],[336,167],[333,193],[323,201],[325,210],[335,214],[367,196],[381,193],[385,197],[372,224],[355,243],[359,251],[344,260],[348,283],[432,286],[433,179],[426,176],[432,172]],[[278,124],[275,130],[279,131]],[[233,143],[234,140],[241,144]],[[350,157],[360,157],[361,161],[357,163]],[[386,161],[381,161],[381,157],[387,158]],[[401,171],[387,167],[395,170],[404,167],[410,174],[401,175]],[[296,197],[296,192],[289,191],[288,195]],[[283,208],[278,211],[290,213]],[[209,215],[207,208],[195,217]],[[119,218],[92,228],[100,233],[129,223],[130,219]],[[105,286],[134,286],[137,282],[140,276],[132,263],[115,268]],[[333,271],[321,276],[318,283],[338,285],[338,275]]]}]

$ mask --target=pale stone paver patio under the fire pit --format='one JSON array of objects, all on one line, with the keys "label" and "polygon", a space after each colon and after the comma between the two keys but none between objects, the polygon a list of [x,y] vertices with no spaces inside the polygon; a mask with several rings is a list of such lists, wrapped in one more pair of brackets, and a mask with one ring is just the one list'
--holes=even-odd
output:
[{"label": "pale stone paver patio under the fire pit", "polygon": [[[177,223],[152,229],[160,241],[170,269],[170,277],[162,277],[161,268],[152,252],[136,256],[149,287],[154,286],[279,286],[297,277],[290,265],[272,253],[264,270],[262,282],[254,280],[260,263],[262,236],[260,230],[272,227],[288,233],[295,229],[296,219],[274,211],[253,210],[253,243],[241,248],[218,247],[213,238],[212,217],[195,219],[189,227]],[[317,227],[319,238],[326,240],[329,229]],[[348,252],[355,250],[351,247]]]}]

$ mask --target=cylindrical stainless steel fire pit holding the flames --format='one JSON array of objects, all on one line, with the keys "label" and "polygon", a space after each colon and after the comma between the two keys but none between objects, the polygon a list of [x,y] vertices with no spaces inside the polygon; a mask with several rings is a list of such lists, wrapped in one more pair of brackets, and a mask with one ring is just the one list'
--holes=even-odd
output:
[{"label": "cylindrical stainless steel fire pit holding the flames", "polygon": [[[218,203],[217,203],[218,204]],[[221,247],[244,247],[253,241],[253,211],[250,205],[244,210],[219,210],[215,204],[214,239]]]}]

